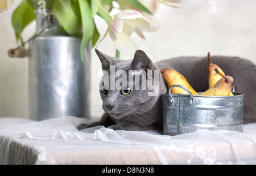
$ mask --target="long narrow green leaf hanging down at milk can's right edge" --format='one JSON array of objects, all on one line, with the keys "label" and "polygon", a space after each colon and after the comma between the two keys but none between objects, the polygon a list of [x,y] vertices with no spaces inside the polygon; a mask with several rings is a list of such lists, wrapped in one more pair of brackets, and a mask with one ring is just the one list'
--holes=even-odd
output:
[{"label": "long narrow green leaf hanging down at milk can's right edge", "polygon": [[92,11],[90,10],[90,5],[85,0],[78,0],[81,12],[81,20],[82,20],[82,41],[81,41],[81,60],[84,62],[84,50],[86,45],[93,37],[94,32],[94,22],[92,18]]}]

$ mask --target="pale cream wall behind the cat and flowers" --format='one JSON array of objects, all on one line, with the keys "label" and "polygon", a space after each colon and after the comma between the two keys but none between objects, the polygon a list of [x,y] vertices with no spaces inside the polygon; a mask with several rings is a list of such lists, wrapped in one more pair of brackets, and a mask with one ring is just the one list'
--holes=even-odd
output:
[{"label": "pale cream wall behind the cat and flowers", "polygon": [[[0,117],[28,118],[28,58],[10,58],[7,51],[15,48],[16,40],[11,15],[21,0],[0,14]],[[131,36],[152,61],[181,55],[233,55],[256,63],[256,1],[254,0],[184,0],[182,8],[161,5],[155,18],[160,28],[144,33],[143,40]],[[104,35],[107,25],[96,17],[97,28]],[[35,32],[35,22],[23,32],[27,40]],[[115,49],[107,37],[97,48],[108,55]],[[122,59],[133,55],[121,54]],[[232,63],[230,63],[232,64]],[[101,63],[92,49],[92,114],[102,101],[98,92]],[[256,76],[256,75],[255,75]]]}]

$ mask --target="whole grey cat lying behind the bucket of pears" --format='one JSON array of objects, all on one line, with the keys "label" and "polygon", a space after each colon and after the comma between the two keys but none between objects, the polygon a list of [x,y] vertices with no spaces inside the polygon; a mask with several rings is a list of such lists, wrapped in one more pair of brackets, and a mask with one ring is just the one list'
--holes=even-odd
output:
[{"label": "whole grey cat lying behind the bucket of pears", "polygon": [[[109,57],[97,49],[96,53],[104,70],[100,94],[105,114],[100,122],[90,126],[104,125],[114,130],[162,131],[160,95],[168,90],[159,68],[170,67],[180,72],[197,92],[208,89],[207,57],[177,57],[153,63],[142,50],[137,50],[134,58],[130,60]],[[211,60],[220,66],[226,75],[234,78],[236,92],[244,93],[243,123],[256,122],[256,66],[237,57],[213,56]],[[118,70],[122,70],[122,74],[117,74]],[[123,78],[123,75],[126,75],[126,78]],[[136,78],[139,85],[135,84]],[[151,88],[148,84],[145,88],[143,84],[147,81],[144,79],[151,80]],[[111,81],[119,81],[118,88],[114,87],[113,83],[111,85]]]}]

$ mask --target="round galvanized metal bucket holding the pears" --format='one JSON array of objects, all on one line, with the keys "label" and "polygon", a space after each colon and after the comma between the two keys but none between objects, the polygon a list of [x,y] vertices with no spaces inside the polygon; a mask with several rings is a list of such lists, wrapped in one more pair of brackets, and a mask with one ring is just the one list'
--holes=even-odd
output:
[{"label": "round galvanized metal bucket holding the pears", "polygon": [[[180,87],[189,95],[171,93]],[[163,133],[179,135],[198,130],[243,131],[243,93],[234,96],[192,95],[182,85],[172,85],[162,95]]]}]

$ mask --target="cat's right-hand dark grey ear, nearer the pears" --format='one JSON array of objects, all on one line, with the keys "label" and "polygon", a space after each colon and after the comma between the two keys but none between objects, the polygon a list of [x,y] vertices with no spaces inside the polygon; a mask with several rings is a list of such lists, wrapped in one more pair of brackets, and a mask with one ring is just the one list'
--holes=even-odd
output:
[{"label": "cat's right-hand dark grey ear, nearer the pears", "polygon": [[151,61],[142,50],[137,50],[135,51],[130,68],[133,70],[151,70]]}]

